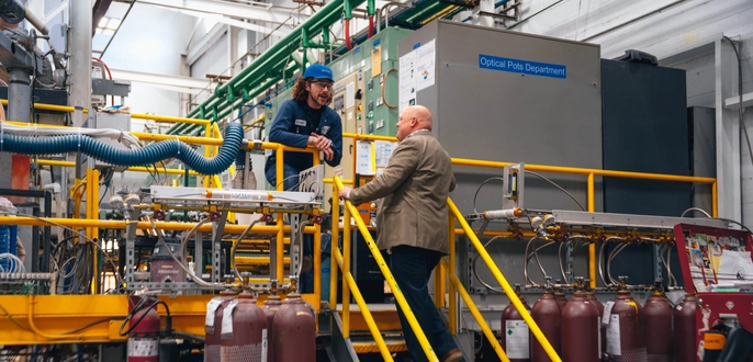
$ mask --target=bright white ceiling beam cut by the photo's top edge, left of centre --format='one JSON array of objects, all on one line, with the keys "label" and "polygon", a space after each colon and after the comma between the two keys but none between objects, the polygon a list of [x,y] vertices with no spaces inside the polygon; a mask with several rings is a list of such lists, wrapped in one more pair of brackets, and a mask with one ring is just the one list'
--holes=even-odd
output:
[{"label": "bright white ceiling beam cut by the photo's top edge, left of centre", "polygon": [[305,21],[308,18],[307,15],[300,15],[297,11],[277,10],[272,5],[256,7],[210,0],[138,0],[138,2],[162,8],[199,11],[207,14],[248,19],[277,24],[284,23],[290,16],[299,18],[301,21]]}]

